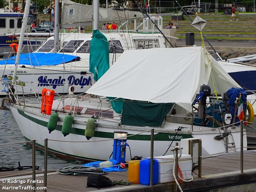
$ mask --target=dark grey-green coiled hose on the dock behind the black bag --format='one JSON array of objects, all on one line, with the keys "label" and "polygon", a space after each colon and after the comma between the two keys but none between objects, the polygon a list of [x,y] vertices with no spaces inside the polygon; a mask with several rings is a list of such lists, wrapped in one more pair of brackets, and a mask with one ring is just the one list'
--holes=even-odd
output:
[{"label": "dark grey-green coiled hose on the dock behind the black bag", "polygon": [[[75,169],[75,170],[72,170]],[[77,170],[81,169],[81,170]],[[74,175],[74,176],[92,176],[92,175],[106,175],[107,172],[103,171],[100,167],[94,169],[89,166],[68,166],[59,170],[62,175]]]}]

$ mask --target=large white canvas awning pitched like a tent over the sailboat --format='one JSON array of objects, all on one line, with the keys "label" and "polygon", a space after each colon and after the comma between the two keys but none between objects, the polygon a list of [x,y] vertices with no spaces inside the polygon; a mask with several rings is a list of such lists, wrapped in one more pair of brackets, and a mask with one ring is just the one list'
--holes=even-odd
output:
[{"label": "large white canvas awning pitched like a tent over the sailboat", "polygon": [[[213,79],[213,81],[212,81]],[[223,94],[240,87],[203,47],[125,51],[86,93],[153,103],[175,102],[191,111],[200,85]]]}]

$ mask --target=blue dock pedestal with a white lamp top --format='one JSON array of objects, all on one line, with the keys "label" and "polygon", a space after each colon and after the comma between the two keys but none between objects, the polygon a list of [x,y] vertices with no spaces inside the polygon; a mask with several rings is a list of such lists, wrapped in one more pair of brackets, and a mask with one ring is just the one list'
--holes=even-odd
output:
[{"label": "blue dock pedestal with a white lamp top", "polygon": [[[123,131],[114,132],[113,159],[115,159],[119,163],[125,163],[126,146],[128,146],[128,144],[126,143],[127,141],[126,136],[127,136],[127,132],[123,132]],[[118,138],[121,138],[121,139],[118,139]]]}]

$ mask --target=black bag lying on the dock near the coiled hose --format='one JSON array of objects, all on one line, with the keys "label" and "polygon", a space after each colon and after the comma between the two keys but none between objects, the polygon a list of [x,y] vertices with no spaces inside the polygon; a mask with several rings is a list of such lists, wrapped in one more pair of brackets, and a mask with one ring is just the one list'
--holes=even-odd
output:
[{"label": "black bag lying on the dock near the coiled hose", "polygon": [[87,178],[87,187],[95,187],[95,188],[102,188],[102,187],[112,187],[116,184],[112,183],[108,177],[105,176],[88,176]]}]

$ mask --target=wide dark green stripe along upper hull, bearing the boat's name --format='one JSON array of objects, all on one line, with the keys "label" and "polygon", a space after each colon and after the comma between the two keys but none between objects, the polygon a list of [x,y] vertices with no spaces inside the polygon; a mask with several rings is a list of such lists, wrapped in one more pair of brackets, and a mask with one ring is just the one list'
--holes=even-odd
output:
[{"label": "wide dark green stripe along upper hull, bearing the boat's name", "polygon": [[[48,122],[37,119],[35,117],[29,116],[27,114],[24,113],[24,111],[17,109],[18,113],[21,116],[24,116],[25,118],[29,119],[30,121],[39,124],[41,126],[44,126],[47,129],[47,124]],[[57,127],[55,130],[57,131],[61,131],[62,125],[57,124]],[[82,135],[84,136],[84,129],[79,129],[79,128],[71,128],[71,132],[72,134],[75,135]],[[128,136],[131,134],[127,134]],[[155,141],[180,141],[180,139],[187,139],[187,138],[192,138],[191,135],[189,134],[177,134],[175,137],[175,133],[156,133],[154,135],[154,140]],[[108,138],[108,139],[113,139],[114,138],[114,133],[110,133],[110,132],[101,132],[101,131],[95,131],[94,133],[94,137],[98,137],[98,138]],[[134,135],[129,137],[129,140],[143,140],[143,141],[150,141],[151,136],[150,135]]]}]

